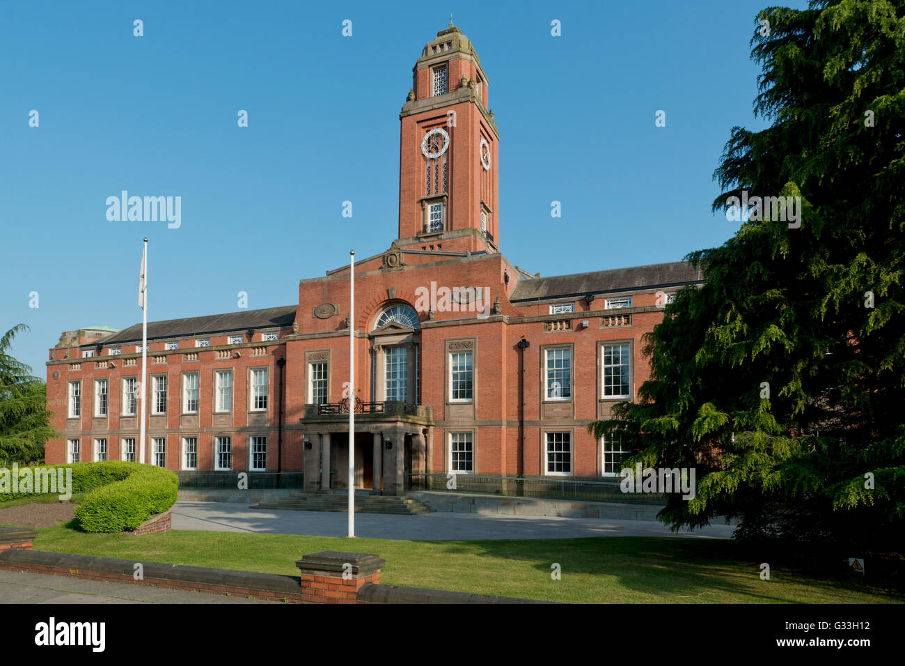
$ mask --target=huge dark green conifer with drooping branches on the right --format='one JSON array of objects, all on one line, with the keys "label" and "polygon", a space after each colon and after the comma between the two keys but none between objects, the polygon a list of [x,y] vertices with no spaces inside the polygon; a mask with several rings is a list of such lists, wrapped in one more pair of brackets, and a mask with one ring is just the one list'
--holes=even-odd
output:
[{"label": "huge dark green conifer with drooping branches on the right", "polygon": [[750,207],[723,246],[686,257],[706,285],[646,337],[638,402],[588,430],[633,442],[626,467],[696,469],[696,496],[661,514],[674,527],[735,516],[742,537],[901,549],[905,2],[756,23],[754,108],[772,124],[731,130],[713,209],[743,190],[801,197],[801,225]]}]

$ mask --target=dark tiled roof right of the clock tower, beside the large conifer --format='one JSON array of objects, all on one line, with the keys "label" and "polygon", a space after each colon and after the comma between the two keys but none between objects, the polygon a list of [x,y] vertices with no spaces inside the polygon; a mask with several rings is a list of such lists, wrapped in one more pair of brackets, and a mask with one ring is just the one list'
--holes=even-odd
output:
[{"label": "dark tiled roof right of the clock tower, beside the large conifer", "polygon": [[519,280],[510,296],[512,303],[562,296],[607,294],[703,282],[700,270],[688,262],[616,268],[593,273],[554,275]]}]

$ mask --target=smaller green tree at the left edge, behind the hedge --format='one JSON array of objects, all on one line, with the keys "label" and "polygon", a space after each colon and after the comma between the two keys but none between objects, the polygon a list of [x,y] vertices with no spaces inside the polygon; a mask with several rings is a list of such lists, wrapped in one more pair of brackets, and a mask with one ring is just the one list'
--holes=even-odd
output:
[{"label": "smaller green tree at the left edge, behind the hedge", "polygon": [[47,410],[47,385],[32,376],[32,369],[7,352],[16,333],[27,331],[23,323],[0,338],[0,463],[43,459],[44,442],[59,433]]}]

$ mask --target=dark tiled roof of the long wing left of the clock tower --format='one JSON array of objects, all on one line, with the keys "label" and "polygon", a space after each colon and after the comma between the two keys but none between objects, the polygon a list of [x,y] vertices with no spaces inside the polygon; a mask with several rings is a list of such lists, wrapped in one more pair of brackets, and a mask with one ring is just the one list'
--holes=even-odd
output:
[{"label": "dark tiled roof of the long wing left of the clock tower", "polygon": [[[295,321],[295,305],[269,307],[263,310],[246,310],[237,313],[209,314],[205,317],[169,319],[166,322],[148,322],[148,340],[176,338],[194,335],[211,335],[230,331],[291,326]],[[111,335],[103,344],[119,344],[141,341],[141,323],[136,323]]]}]

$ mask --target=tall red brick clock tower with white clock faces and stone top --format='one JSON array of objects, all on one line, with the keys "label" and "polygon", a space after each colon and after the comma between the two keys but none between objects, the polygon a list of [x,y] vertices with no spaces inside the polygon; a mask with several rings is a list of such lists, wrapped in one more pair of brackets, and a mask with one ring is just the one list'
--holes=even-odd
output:
[{"label": "tall red brick clock tower with white clock faces and stone top", "polygon": [[437,33],[414,63],[399,114],[399,246],[498,252],[500,134],[487,75],[459,28]]}]

